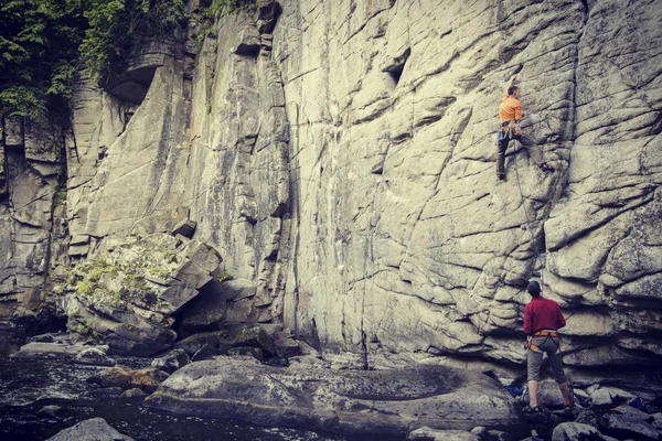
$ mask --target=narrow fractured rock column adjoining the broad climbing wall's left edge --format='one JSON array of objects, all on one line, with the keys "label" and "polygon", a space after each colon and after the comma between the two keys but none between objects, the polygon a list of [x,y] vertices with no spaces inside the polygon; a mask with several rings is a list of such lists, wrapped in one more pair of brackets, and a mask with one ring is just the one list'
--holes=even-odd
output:
[{"label": "narrow fractured rock column adjoining the broad climbing wall's left edge", "polygon": [[[223,18],[194,72],[186,201],[196,237],[255,295],[235,299],[228,320],[280,321],[281,237],[289,206],[288,142],[280,73],[271,60],[277,3],[256,23]],[[255,291],[254,291],[255,292]]]}]

